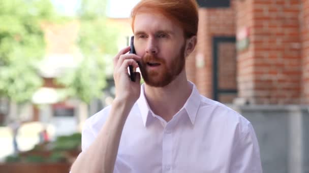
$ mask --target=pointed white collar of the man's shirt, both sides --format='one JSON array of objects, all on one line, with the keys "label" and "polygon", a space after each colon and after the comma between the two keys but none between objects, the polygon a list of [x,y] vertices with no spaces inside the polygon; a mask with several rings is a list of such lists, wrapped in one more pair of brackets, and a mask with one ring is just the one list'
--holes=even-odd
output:
[{"label": "pointed white collar of the man's shirt, both sides", "polygon": [[[191,81],[188,81],[191,85],[192,85],[192,93],[189,96],[187,102],[183,105],[183,108],[186,109],[188,116],[190,118],[191,123],[194,125],[195,122],[195,118],[200,106],[200,101],[201,101],[201,97],[200,97],[200,93],[198,92],[195,84]],[[141,95],[139,97],[139,99],[137,100],[137,104],[142,116],[142,120],[143,120],[143,124],[144,126],[146,126],[150,120],[151,117],[151,110],[150,107],[148,105],[148,102],[145,98],[145,84],[141,85]]]}]

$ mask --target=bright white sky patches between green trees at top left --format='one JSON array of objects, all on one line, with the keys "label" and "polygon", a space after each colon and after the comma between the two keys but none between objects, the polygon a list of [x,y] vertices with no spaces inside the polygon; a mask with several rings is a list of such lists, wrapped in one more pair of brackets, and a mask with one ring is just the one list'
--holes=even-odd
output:
[{"label": "bright white sky patches between green trees at top left", "polygon": [[[79,0],[51,0],[56,9],[64,15],[72,16]],[[131,9],[140,0],[108,0],[106,15],[110,18],[129,18]]]}]

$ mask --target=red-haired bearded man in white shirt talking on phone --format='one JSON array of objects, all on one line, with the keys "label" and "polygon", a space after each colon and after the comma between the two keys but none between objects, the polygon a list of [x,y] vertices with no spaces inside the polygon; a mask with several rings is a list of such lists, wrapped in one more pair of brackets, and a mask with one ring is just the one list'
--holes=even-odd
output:
[{"label": "red-haired bearded man in white shirt talking on phone", "polygon": [[[197,27],[194,0],[144,0],[133,9],[136,55],[128,47],[115,56],[116,97],[85,122],[72,173],[262,172],[251,123],[187,80]],[[139,73],[130,80],[129,65],[145,84]]]}]

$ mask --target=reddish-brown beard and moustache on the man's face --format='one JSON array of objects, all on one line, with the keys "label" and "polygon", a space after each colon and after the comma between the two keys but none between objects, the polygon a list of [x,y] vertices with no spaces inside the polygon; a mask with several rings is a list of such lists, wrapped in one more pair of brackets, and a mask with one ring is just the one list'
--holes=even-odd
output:
[{"label": "reddish-brown beard and moustache on the man's face", "polygon": [[[145,83],[153,87],[164,87],[171,83],[184,68],[186,62],[186,57],[184,57],[184,48],[185,44],[183,44],[178,54],[171,57],[171,62],[173,65],[168,65],[162,58],[151,54],[146,54],[142,58],[142,62],[140,64],[140,71]],[[160,66],[157,70],[149,69],[147,62],[160,63]]]}]

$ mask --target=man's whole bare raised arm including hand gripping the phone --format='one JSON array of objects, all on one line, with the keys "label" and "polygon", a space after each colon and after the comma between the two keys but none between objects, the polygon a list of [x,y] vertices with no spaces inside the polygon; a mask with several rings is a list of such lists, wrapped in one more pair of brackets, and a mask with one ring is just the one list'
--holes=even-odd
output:
[{"label": "man's whole bare raised arm including hand gripping the phone", "polygon": [[121,50],[114,58],[116,97],[109,116],[95,141],[77,157],[71,173],[111,173],[114,170],[123,126],[140,96],[140,74],[136,73],[135,82],[132,82],[128,75],[129,65],[138,67],[136,60],[139,60],[139,57],[133,54],[124,55],[129,48]]}]

